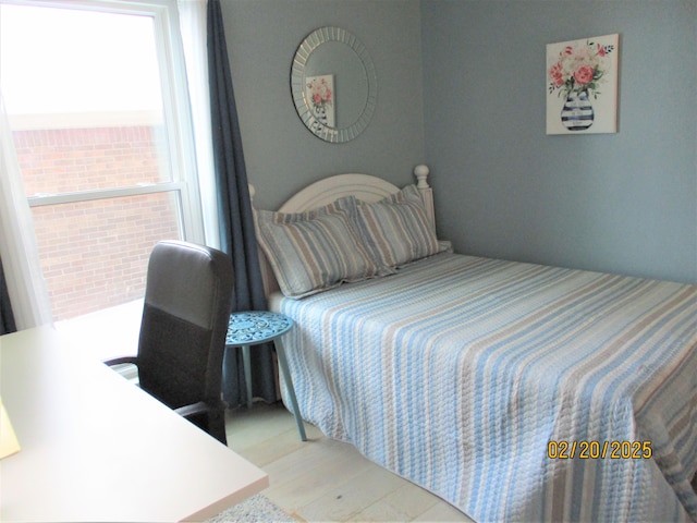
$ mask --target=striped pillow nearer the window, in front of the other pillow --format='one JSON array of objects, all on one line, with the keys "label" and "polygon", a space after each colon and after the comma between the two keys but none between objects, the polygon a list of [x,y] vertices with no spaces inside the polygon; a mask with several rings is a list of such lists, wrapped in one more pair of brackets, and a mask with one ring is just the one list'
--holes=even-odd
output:
[{"label": "striped pillow nearer the window, in front of the other pillow", "polygon": [[356,198],[307,212],[257,210],[257,230],[283,294],[303,297],[377,275],[356,229]]}]

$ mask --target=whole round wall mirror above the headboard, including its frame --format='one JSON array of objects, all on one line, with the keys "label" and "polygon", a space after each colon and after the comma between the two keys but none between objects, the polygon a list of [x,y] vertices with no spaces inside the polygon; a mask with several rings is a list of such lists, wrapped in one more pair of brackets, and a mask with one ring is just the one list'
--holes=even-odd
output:
[{"label": "whole round wall mirror above the headboard, including its frame", "polygon": [[340,27],[321,27],[297,48],[291,92],[305,126],[327,142],[348,142],[368,126],[377,75],[366,48]]}]

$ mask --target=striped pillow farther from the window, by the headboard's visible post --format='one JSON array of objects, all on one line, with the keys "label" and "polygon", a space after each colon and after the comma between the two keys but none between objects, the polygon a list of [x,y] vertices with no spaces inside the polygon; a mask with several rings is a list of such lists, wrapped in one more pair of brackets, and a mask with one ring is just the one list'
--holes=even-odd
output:
[{"label": "striped pillow farther from the window, by the headboard's visible post", "polygon": [[441,251],[416,185],[375,204],[358,204],[358,221],[380,273]]}]

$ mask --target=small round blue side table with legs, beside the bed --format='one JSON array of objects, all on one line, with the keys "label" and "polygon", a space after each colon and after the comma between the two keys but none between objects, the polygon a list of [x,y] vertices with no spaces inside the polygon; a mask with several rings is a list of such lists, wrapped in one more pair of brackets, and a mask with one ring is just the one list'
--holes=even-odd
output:
[{"label": "small round blue side table with legs, beside the bed", "polygon": [[305,436],[305,427],[297,408],[297,399],[295,398],[295,389],[293,380],[288,368],[285,360],[285,348],[283,346],[282,336],[293,328],[293,320],[288,316],[279,313],[267,311],[247,311],[243,313],[233,313],[230,315],[228,324],[228,336],[225,337],[227,346],[242,348],[242,360],[244,363],[244,378],[247,386],[247,406],[252,406],[252,367],[249,363],[249,348],[260,343],[273,341],[276,353],[279,358],[279,367],[283,373],[283,379],[288,394],[291,399],[293,408],[293,416],[297,430],[303,441],[307,440]]}]

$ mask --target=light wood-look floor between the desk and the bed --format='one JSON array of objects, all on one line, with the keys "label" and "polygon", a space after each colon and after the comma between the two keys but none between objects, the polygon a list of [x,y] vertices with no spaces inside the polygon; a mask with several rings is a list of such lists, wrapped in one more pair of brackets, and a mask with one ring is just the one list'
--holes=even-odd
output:
[{"label": "light wood-look floor between the desk and the bed", "polygon": [[228,445],[269,474],[264,494],[299,521],[472,522],[451,504],[363,458],[351,445],[305,424],[280,404],[228,415]]}]

